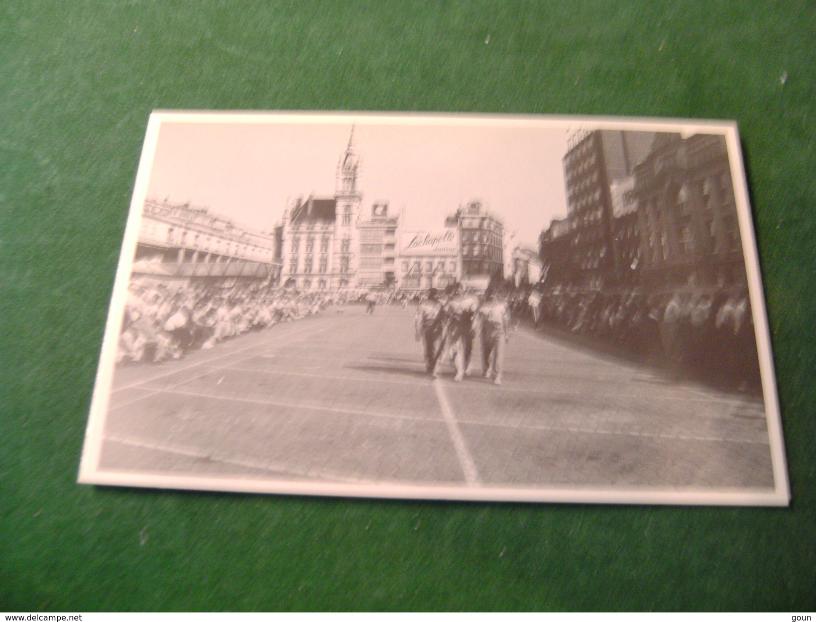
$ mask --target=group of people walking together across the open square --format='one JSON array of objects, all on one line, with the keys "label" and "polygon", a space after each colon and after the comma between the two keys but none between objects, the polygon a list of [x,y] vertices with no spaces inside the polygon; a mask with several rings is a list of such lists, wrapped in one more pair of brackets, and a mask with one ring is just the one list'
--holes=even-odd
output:
[{"label": "group of people walking together across the open square", "polygon": [[446,288],[439,300],[436,289],[419,303],[415,316],[416,340],[422,343],[425,371],[438,378],[439,364],[446,358],[456,368],[459,382],[471,371],[473,340],[481,337],[481,373],[502,384],[504,348],[510,338],[510,307],[499,288],[488,287],[480,300],[459,283]]}]

